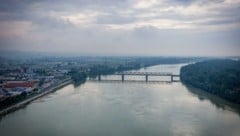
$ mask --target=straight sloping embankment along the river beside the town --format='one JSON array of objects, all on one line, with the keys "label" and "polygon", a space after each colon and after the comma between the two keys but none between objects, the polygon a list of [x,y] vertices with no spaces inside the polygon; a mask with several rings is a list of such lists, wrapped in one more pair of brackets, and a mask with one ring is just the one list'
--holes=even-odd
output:
[{"label": "straight sloping embankment along the river beside the town", "polygon": [[65,79],[57,85],[52,85],[50,87],[44,88],[44,89],[40,90],[41,93],[37,94],[36,96],[30,97],[29,99],[26,99],[24,101],[21,101],[19,103],[16,103],[14,105],[11,105],[11,106],[1,110],[0,111],[0,117],[4,116],[4,115],[6,115],[10,112],[16,111],[17,109],[20,109],[20,108],[26,106],[27,104],[31,103],[32,101],[34,101],[34,100],[36,100],[40,97],[43,97],[43,96],[45,96],[49,93],[55,92],[57,89],[59,89],[61,87],[64,87],[64,86],[66,86],[70,83],[72,83],[71,79]]}]

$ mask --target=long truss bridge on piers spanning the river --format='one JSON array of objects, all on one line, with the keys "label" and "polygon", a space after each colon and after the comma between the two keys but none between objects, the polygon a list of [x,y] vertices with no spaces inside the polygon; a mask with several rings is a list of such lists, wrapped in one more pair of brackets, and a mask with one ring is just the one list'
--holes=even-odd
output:
[{"label": "long truss bridge on piers spanning the river", "polygon": [[[124,77],[125,76],[145,76],[145,81],[148,82],[148,77],[149,76],[168,76],[168,77],[171,77],[171,82],[176,82],[176,81],[179,81],[179,80],[174,80],[174,77],[180,77],[179,75],[175,75],[175,74],[172,74],[172,73],[168,73],[168,72],[117,72],[117,73],[114,73],[114,74],[110,74],[108,76],[111,76],[111,75],[119,75],[121,76],[121,80],[124,81]],[[101,81],[101,74],[98,75],[98,81]]]}]

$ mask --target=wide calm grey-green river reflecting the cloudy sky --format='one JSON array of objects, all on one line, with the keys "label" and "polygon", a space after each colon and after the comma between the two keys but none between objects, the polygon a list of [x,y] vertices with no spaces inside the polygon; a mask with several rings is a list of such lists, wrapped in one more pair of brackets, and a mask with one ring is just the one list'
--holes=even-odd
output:
[{"label": "wide calm grey-green river reflecting the cloudy sky", "polygon": [[[182,65],[138,71],[179,74]],[[149,80],[169,80],[156,78]],[[125,79],[143,81],[145,77]],[[0,135],[239,136],[239,109],[181,82],[87,81],[65,86],[4,116]]]}]

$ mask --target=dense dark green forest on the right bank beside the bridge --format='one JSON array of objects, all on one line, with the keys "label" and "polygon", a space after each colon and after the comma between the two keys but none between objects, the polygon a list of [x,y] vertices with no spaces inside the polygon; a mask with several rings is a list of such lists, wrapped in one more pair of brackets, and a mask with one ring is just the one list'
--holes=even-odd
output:
[{"label": "dense dark green forest on the right bank beside the bridge", "polygon": [[240,60],[210,60],[181,68],[181,81],[240,104]]}]

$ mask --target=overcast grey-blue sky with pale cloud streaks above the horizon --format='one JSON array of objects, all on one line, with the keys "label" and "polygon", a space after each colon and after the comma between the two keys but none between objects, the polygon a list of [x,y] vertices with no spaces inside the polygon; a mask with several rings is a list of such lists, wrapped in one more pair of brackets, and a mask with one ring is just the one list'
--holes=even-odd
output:
[{"label": "overcast grey-blue sky with pale cloud streaks above the horizon", "polygon": [[0,0],[0,51],[239,56],[240,0]]}]

